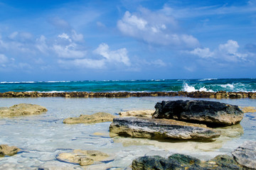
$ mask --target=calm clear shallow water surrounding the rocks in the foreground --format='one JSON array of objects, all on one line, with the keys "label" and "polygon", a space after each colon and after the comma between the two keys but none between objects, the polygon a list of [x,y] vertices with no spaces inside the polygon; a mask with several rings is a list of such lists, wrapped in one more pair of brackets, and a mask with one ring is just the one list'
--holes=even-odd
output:
[{"label": "calm clear shallow water surrounding the rocks in the foreground", "polygon": [[[48,112],[41,115],[0,118],[0,144],[22,149],[13,157],[1,157],[0,169],[82,169],[78,164],[56,159],[58,154],[73,149],[95,149],[111,155],[110,162],[93,164],[87,169],[130,169],[132,159],[144,155],[168,157],[178,152],[206,160],[218,154],[230,154],[245,140],[256,140],[256,113],[245,113],[240,125],[218,128],[223,135],[215,142],[111,138],[108,132],[110,123],[63,124],[63,119],[78,117],[80,114],[107,112],[117,115],[120,111],[154,109],[156,102],[178,99],[191,98],[0,98],[0,107],[33,103],[48,108]],[[256,107],[255,99],[202,100]],[[101,132],[102,135],[93,135],[95,132]]]}]

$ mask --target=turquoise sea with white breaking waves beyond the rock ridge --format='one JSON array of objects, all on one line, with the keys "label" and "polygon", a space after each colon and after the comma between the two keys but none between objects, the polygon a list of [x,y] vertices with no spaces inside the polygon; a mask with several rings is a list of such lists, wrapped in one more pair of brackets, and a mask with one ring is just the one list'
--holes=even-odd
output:
[{"label": "turquoise sea with white breaking waves beyond the rock ridge", "polygon": [[107,81],[1,81],[0,92],[151,92],[245,91],[256,92],[256,79],[159,79]]}]

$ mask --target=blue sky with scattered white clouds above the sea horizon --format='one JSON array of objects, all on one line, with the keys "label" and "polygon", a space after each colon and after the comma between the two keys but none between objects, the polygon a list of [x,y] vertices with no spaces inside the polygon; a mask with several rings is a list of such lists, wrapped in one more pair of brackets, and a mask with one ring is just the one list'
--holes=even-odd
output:
[{"label": "blue sky with scattered white clouds above the sea horizon", "polygon": [[256,0],[0,0],[0,81],[256,78]]}]

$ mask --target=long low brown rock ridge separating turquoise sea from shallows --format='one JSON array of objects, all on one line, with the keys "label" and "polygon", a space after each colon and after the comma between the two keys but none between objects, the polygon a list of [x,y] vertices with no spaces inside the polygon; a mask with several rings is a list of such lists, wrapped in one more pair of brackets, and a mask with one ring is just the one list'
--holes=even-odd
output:
[{"label": "long low brown rock ridge separating turquoise sea from shallows", "polygon": [[177,91],[177,92],[58,92],[58,93],[41,93],[32,92],[14,92],[8,91],[0,93],[0,97],[65,97],[65,98],[93,98],[93,97],[144,97],[144,96],[187,96],[191,98],[256,98],[256,92],[206,92],[206,91]]}]

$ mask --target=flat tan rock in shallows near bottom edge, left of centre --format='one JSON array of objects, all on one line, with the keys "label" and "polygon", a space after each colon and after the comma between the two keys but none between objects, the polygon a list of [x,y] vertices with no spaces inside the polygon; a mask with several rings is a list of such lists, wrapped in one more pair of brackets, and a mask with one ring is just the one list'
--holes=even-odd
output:
[{"label": "flat tan rock in shallows near bottom edge, left of centre", "polygon": [[94,164],[95,162],[101,162],[109,157],[108,154],[97,150],[80,150],[75,149],[70,153],[60,153],[57,159],[63,162],[70,162],[86,166]]}]

